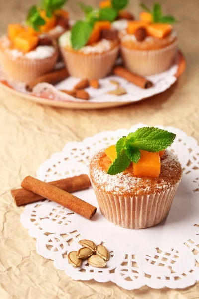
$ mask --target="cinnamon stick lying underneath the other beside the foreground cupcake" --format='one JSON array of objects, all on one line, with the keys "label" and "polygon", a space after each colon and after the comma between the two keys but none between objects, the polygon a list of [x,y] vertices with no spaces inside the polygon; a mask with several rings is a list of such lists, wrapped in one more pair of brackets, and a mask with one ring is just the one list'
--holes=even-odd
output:
[{"label": "cinnamon stick lying underneath the other beside the foreground cupcake", "polygon": [[[49,182],[47,184],[55,186],[69,193],[78,190],[83,190],[91,186],[90,179],[86,174],[81,174],[74,177],[56,180],[53,182]],[[27,203],[44,199],[43,196],[27,191],[23,188],[11,190],[11,194],[17,206],[21,206]]]}]

